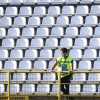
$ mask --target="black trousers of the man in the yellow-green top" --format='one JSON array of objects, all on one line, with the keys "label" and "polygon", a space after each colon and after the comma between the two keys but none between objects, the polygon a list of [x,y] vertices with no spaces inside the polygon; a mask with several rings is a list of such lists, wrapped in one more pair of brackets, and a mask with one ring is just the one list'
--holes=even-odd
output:
[{"label": "black trousers of the man in the yellow-green top", "polygon": [[[72,74],[69,74],[61,78],[60,89],[64,94],[69,94],[69,84],[66,84],[66,83],[70,83],[71,78],[72,78]],[[62,84],[62,83],[65,83],[65,84]]]}]

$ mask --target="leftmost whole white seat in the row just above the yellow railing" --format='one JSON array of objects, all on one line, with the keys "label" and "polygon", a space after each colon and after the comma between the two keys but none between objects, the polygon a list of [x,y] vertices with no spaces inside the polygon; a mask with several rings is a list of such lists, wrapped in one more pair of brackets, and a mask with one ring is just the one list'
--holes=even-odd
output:
[{"label": "leftmost whole white seat in the row just above the yellow railing", "polygon": [[6,70],[16,70],[17,69],[17,62],[16,61],[6,61],[4,65],[4,69]]}]

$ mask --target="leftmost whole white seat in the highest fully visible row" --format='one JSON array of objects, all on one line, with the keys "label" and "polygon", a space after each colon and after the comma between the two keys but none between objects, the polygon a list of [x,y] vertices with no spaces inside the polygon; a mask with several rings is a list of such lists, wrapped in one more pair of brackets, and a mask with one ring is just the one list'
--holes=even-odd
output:
[{"label": "leftmost whole white seat in the highest fully visible row", "polygon": [[7,7],[5,11],[6,16],[15,17],[18,14],[17,7]]}]

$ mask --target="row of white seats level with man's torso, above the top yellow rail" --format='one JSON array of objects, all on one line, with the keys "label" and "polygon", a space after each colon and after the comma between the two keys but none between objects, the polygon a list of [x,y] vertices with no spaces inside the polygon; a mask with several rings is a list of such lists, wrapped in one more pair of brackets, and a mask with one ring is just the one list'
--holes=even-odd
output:
[{"label": "row of white seats level with man's torso, above the top yellow rail", "polygon": [[[0,70],[51,70],[52,67],[55,64],[54,60],[45,61],[45,60],[36,60],[33,61],[30,60],[22,60],[22,61],[15,61],[15,60],[8,60],[8,61],[0,61]],[[78,62],[74,61],[73,63],[73,70],[100,70],[100,60],[96,60],[94,62],[89,60],[81,60]]]}]

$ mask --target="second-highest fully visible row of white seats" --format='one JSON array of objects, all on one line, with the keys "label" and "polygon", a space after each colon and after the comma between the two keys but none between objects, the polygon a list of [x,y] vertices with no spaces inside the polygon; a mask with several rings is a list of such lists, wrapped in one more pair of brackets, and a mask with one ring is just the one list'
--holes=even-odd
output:
[{"label": "second-highest fully visible row of white seats", "polygon": [[[26,21],[28,19],[28,21]],[[52,27],[54,25],[58,26],[96,26],[100,25],[99,19],[95,15],[89,15],[86,16],[86,18],[83,18],[80,15],[75,15],[71,17],[71,20],[69,20],[68,16],[61,15],[58,16],[57,19],[52,16],[45,16],[43,19],[41,19],[39,16],[32,16],[29,18],[25,18],[22,16],[15,17],[12,21],[11,17],[2,17],[0,18],[0,27],[24,27],[24,26],[46,26],[46,27]],[[91,21],[92,20],[92,21]]]}]

